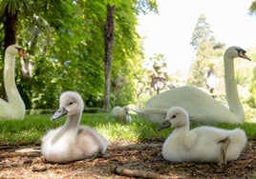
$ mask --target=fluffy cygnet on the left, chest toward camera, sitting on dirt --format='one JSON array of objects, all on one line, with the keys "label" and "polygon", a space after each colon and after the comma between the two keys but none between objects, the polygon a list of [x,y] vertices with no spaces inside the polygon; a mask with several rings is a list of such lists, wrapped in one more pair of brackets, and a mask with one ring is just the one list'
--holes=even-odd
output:
[{"label": "fluffy cygnet on the left, chest toward camera, sitting on dirt", "polygon": [[75,91],[65,91],[59,98],[59,109],[51,117],[55,120],[65,114],[66,123],[52,129],[42,138],[41,150],[49,162],[67,163],[81,159],[93,159],[107,149],[107,140],[95,129],[79,126],[84,104]]}]

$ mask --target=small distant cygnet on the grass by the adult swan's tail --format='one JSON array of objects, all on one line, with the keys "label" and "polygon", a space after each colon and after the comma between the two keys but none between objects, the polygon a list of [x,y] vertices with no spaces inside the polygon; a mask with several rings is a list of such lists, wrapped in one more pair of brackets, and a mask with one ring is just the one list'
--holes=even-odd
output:
[{"label": "small distant cygnet on the grass by the adult swan's tail", "polygon": [[117,122],[132,122],[132,117],[129,114],[129,107],[115,107],[112,109],[112,115]]}]

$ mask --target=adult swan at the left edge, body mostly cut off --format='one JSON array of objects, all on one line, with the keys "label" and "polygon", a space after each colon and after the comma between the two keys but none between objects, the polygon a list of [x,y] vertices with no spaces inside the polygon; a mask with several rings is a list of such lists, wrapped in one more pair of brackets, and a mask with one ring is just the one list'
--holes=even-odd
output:
[{"label": "adult swan at the left edge, body mostly cut off", "polygon": [[15,56],[27,56],[21,46],[11,45],[5,52],[4,84],[8,102],[0,99],[0,120],[17,119],[25,117],[25,105],[15,84]]}]

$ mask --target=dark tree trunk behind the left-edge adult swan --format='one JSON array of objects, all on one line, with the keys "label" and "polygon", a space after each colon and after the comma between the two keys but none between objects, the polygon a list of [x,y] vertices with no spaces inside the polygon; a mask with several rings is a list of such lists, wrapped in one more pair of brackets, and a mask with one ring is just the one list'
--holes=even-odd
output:
[{"label": "dark tree trunk behind the left-edge adult swan", "polygon": [[[17,30],[17,22],[18,22],[18,15],[17,11],[12,14],[8,10],[5,10],[4,14],[4,30],[5,30],[5,36],[4,36],[4,53],[3,56],[3,64],[5,63],[5,50],[11,46],[12,44],[16,43],[16,30]],[[7,100],[5,87],[4,87],[4,75],[3,75],[4,69],[0,70],[0,80],[2,82],[1,86],[1,97]]]}]

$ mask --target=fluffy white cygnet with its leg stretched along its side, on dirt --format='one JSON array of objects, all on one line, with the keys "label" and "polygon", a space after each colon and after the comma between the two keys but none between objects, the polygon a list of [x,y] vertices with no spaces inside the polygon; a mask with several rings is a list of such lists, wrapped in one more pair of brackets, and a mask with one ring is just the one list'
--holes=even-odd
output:
[{"label": "fluffy white cygnet with its leg stretched along its side, on dirt", "polygon": [[171,162],[213,162],[222,167],[236,160],[245,148],[243,129],[199,127],[189,130],[187,112],[180,107],[168,110],[160,129],[175,128],[162,146],[162,156]]}]

